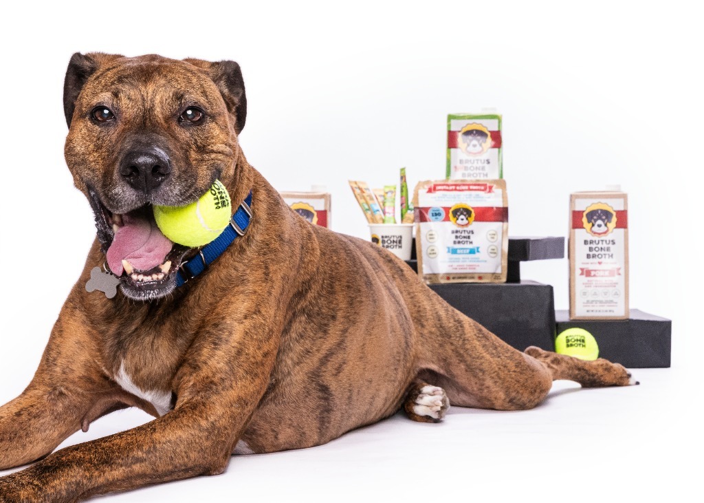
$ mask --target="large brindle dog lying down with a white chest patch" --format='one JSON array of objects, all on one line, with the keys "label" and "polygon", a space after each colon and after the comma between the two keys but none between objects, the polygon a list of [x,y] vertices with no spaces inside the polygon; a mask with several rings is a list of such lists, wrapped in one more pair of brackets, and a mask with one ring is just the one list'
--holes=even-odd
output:
[{"label": "large brindle dog lying down with a white chest patch", "polygon": [[[239,148],[237,63],[75,54],[64,106],[65,158],[97,239],[34,379],[0,408],[0,469],[39,460],[0,478],[1,502],[222,473],[234,452],[320,445],[401,407],[439,421],[449,402],[530,409],[554,379],[629,384],[605,360],[513,349],[394,255],[291,211]],[[189,204],[215,179],[233,211],[252,192],[253,218],[204,273],[176,288],[197,251],[170,244],[108,261],[117,297],[85,290],[120,233],[163,244],[151,205]],[[130,406],[156,419],[51,454]]]}]

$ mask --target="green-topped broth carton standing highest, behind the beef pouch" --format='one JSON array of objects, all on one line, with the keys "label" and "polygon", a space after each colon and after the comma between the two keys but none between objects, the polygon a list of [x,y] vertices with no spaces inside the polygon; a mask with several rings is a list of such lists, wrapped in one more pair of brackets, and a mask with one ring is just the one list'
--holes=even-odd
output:
[{"label": "green-topped broth carton standing highest, behind the beef pouch", "polygon": [[447,116],[448,180],[503,178],[501,115],[450,114]]}]

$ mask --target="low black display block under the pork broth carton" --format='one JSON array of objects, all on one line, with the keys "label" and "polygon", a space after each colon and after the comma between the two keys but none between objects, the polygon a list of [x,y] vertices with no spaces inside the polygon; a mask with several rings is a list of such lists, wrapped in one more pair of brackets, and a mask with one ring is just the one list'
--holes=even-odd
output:
[{"label": "low black display block under the pork broth carton", "polygon": [[631,309],[628,320],[570,320],[570,311],[557,311],[557,333],[584,328],[599,345],[599,357],[628,368],[669,367],[672,321]]}]

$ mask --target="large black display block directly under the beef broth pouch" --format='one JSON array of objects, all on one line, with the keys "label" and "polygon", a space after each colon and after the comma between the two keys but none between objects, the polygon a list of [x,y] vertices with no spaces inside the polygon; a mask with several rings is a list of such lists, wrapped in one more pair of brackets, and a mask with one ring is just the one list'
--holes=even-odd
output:
[{"label": "large black display block directly under the beef broth pouch", "polygon": [[553,287],[520,283],[446,283],[428,285],[451,306],[516,349],[555,349]]}]

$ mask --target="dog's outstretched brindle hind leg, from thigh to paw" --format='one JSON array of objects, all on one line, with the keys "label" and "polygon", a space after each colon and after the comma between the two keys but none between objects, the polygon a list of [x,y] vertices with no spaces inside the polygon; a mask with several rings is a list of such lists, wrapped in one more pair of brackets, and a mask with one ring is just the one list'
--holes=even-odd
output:
[{"label": "dog's outstretched brindle hind leg, from thigh to paw", "polygon": [[[629,373],[620,365],[583,362],[537,348],[523,353],[444,302],[429,306],[427,312],[414,313],[417,325],[425,325],[418,378],[442,387],[453,405],[531,409],[545,399],[555,379],[586,386],[629,384]],[[431,325],[427,319],[439,322]]]}]

